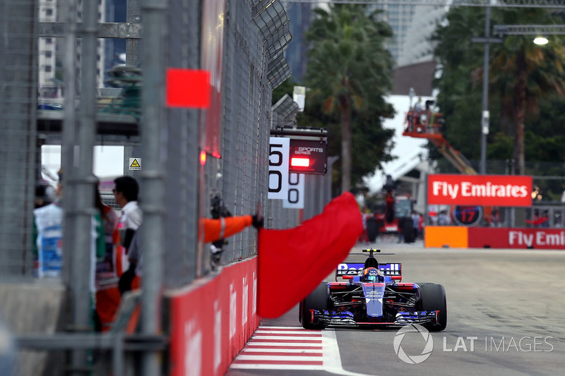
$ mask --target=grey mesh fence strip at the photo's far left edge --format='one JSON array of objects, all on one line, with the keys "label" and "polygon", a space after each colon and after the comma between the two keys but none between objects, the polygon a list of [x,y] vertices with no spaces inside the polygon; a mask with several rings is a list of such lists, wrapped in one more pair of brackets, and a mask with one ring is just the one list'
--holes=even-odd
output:
[{"label": "grey mesh fence strip at the photo's far left edge", "polygon": [[0,275],[32,275],[37,171],[37,4],[0,3]]}]

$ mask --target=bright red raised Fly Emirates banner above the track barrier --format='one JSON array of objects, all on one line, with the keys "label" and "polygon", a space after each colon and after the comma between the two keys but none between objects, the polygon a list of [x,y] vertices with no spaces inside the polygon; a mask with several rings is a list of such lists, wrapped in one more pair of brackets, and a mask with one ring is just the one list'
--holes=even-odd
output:
[{"label": "bright red raised Fly Emirates banner above the track barrier", "polygon": [[429,205],[531,206],[532,176],[429,175]]}]

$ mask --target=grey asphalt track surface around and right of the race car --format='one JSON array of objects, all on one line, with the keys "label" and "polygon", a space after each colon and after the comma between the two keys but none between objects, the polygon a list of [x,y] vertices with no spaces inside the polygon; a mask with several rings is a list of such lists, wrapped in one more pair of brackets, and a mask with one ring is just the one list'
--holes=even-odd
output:
[{"label": "grey asphalt track surface around and right of the race car", "polygon": [[[367,245],[352,253],[362,248]],[[373,248],[396,253],[376,257],[380,262],[402,262],[404,282],[444,285],[448,324],[444,332],[432,333],[429,357],[424,353],[417,358],[427,344],[420,333],[397,339],[406,360],[417,363],[425,358],[422,363],[409,364],[400,359],[393,345],[398,329],[333,328],[323,331],[328,337],[324,344],[331,345],[324,345],[331,350],[323,350],[325,368],[273,369],[275,365],[263,364],[256,369],[251,365],[251,369],[230,368],[227,375],[565,374],[565,250],[424,248],[421,242],[383,242]],[[364,259],[358,255],[347,258]],[[293,330],[299,327],[297,317],[295,307],[278,319],[263,320],[261,327]]]}]

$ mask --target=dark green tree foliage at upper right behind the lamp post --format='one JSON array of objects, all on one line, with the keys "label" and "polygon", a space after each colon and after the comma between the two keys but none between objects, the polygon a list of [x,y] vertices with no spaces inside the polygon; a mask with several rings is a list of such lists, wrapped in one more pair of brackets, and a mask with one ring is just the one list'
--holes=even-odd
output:
[{"label": "dark green tree foliage at upper right behind the lamp post", "polygon": [[[547,25],[562,20],[542,8],[495,8],[491,23]],[[484,56],[483,44],[473,44],[471,38],[483,35],[482,8],[453,7],[432,37],[441,69],[436,87],[446,119],[443,132],[469,159],[480,157]],[[562,122],[556,121],[564,119],[559,110],[565,92],[563,39],[554,35],[549,44],[537,46],[532,37],[506,36],[490,47],[487,159],[515,159],[518,174],[525,173],[525,159],[565,157],[563,148],[554,147],[565,135]]]}]

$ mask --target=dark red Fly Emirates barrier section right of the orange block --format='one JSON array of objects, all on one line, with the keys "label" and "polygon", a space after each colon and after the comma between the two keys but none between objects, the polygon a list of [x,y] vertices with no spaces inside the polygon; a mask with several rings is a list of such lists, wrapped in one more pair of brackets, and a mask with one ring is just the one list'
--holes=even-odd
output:
[{"label": "dark red Fly Emirates barrier section right of the orange block", "polygon": [[469,248],[565,249],[563,229],[493,229],[471,227]]}]

